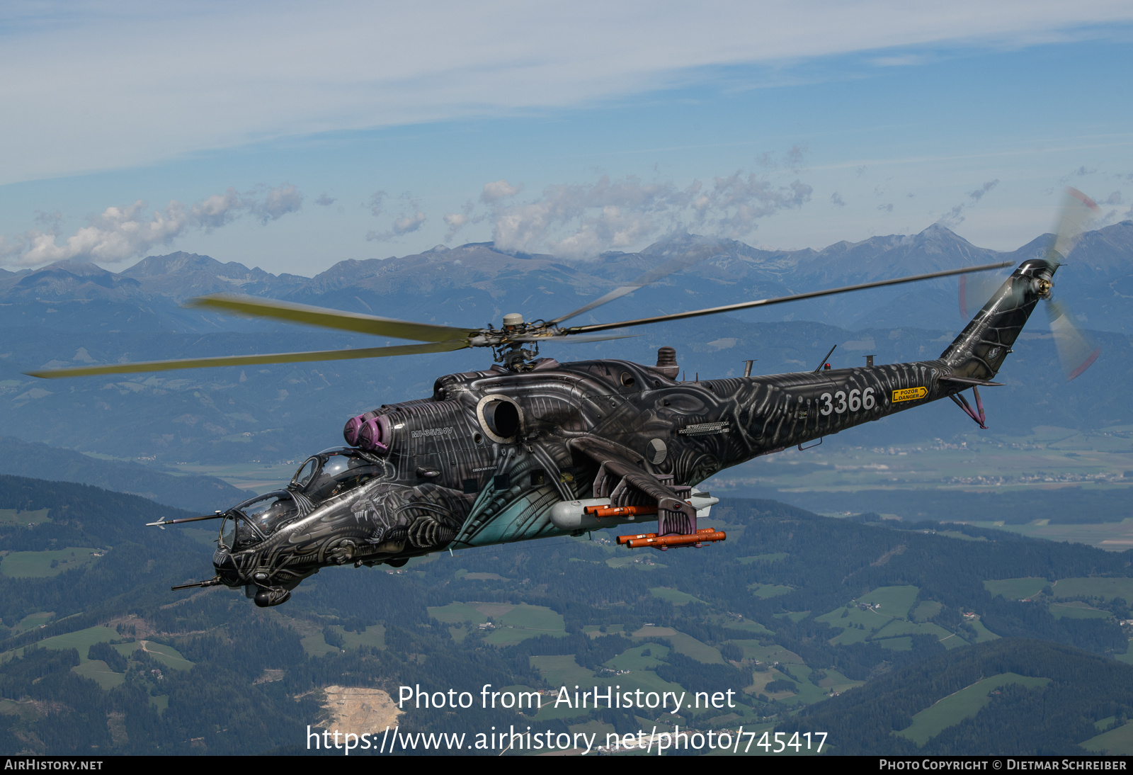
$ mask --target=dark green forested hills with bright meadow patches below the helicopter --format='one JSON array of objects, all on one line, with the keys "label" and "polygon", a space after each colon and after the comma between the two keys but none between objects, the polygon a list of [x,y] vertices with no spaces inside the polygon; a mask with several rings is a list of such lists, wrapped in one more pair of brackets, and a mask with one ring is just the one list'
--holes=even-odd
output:
[{"label": "dark green forested hills with bright meadow patches below the helicopter", "polygon": [[[1133,672],[1122,664],[1133,657],[1118,624],[1133,599],[1130,553],[732,500],[709,522],[729,539],[710,548],[641,554],[599,534],[485,547],[400,571],[327,569],[288,604],[258,610],[227,589],[169,591],[211,576],[210,530],[140,528],[174,513],[82,485],[0,477],[0,514],[11,518],[0,533],[0,615],[10,628],[0,642],[5,750],[297,752],[306,725],[331,723],[331,685],[397,697],[399,685],[476,693],[485,683],[577,683],[689,697],[731,690],[735,707],[545,707],[535,716],[540,729],[602,736],[647,723],[823,727],[834,752],[866,744],[845,735],[880,751],[896,750],[886,748],[888,731],[843,731],[824,708],[898,698],[886,729],[904,730],[906,717],[948,693],[952,683],[915,690],[938,663],[955,665],[942,668],[954,683],[993,667],[1020,675],[988,691],[1024,699],[1067,682],[1108,682],[1116,692]],[[1028,662],[1039,672],[1020,664]],[[1075,722],[1049,746],[1072,753],[1124,730],[1128,714],[1107,697],[1075,710],[1092,734]],[[972,700],[977,712],[981,701]],[[987,713],[999,713],[997,701]],[[998,750],[997,727],[978,713],[963,718],[937,718],[927,744]],[[499,707],[407,709],[398,722],[468,733],[531,723]]]}]

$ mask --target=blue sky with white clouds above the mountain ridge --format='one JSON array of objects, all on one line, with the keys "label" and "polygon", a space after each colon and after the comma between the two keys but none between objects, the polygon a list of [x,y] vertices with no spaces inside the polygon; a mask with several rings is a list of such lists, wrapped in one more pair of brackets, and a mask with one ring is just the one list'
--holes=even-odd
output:
[{"label": "blue sky with white clouds above the mountain ridge", "polygon": [[1133,216],[1127,2],[10,3],[0,71],[9,270]]}]

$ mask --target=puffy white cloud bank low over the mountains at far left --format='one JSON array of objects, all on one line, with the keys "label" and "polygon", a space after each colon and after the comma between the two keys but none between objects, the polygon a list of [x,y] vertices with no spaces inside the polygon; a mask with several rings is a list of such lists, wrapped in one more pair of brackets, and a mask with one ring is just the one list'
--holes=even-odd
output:
[{"label": "puffy white cloud bank low over the mountains at far left", "polygon": [[245,195],[229,188],[186,207],[171,201],[162,210],[146,214],[147,205],[138,199],[131,205],[107,207],[74,235],[58,241],[56,228],[31,229],[15,237],[0,236],[0,258],[17,266],[39,266],[56,261],[96,261],[117,263],[144,255],[159,245],[169,245],[189,229],[212,230],[250,213],[262,223],[274,221],[303,205],[303,194],[283,184]]}]

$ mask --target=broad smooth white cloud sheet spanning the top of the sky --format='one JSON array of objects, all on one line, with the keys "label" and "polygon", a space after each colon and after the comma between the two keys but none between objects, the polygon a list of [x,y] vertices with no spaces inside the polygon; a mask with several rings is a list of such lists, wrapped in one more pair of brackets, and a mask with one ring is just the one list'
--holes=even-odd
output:
[{"label": "broad smooth white cloud sheet spanning the top of the sky", "polygon": [[849,52],[910,65],[910,46],[1100,37],[1133,20],[1126,0],[60,8],[0,6],[0,147],[20,150],[0,185],[281,136],[591,104],[735,65]]}]

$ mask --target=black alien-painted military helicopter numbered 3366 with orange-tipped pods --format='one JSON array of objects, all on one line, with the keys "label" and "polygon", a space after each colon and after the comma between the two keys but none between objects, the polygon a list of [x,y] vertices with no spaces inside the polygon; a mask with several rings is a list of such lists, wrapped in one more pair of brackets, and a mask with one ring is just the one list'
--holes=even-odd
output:
[{"label": "black alien-painted military helicopter numbered 3366 with orange-tipped pods", "polygon": [[[979,388],[1012,352],[1053,276],[1097,205],[1070,190],[1057,237],[1043,257],[1024,261],[936,360],[678,382],[673,348],[650,366],[625,360],[559,363],[539,344],[597,341],[598,332],[817,298],[866,288],[969,274],[968,266],[845,288],[760,299],[636,321],[563,327],[659,278],[709,257],[685,255],[552,321],[503,317],[503,327],[452,327],[284,304],[211,296],[190,304],[330,329],[416,340],[419,344],[195,358],[29,372],[40,377],[240,366],[492,348],[495,365],[440,377],[433,395],[351,418],[348,446],[308,458],[283,489],[206,517],[221,519],[216,576],[173,589],[244,587],[256,605],[284,603],[303,579],[327,565],[403,565],[410,557],[656,520],[655,533],[620,536],[630,548],[700,546],[726,538],[697,529],[718,502],[696,485],[714,474],[790,446],[949,398],[985,427]],[[1051,326],[1068,376],[1097,350],[1051,306]],[[598,335],[596,335],[598,334]],[[530,346],[528,349],[527,346]],[[833,352],[833,349],[832,349]],[[827,358],[829,354],[827,354]],[[825,368],[823,367],[825,365]],[[971,389],[973,409],[963,391]]]}]

